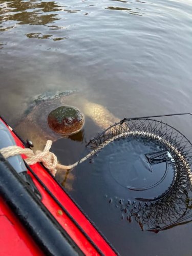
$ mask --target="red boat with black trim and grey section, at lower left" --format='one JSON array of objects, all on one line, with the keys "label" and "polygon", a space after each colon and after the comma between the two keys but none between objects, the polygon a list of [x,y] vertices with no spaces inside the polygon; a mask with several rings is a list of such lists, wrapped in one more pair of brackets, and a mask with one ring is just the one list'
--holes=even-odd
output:
[{"label": "red boat with black trim and grey section, at lower left", "polygon": [[[0,148],[30,146],[2,117],[1,129]],[[21,157],[0,154],[0,255],[117,255],[49,170]]]}]

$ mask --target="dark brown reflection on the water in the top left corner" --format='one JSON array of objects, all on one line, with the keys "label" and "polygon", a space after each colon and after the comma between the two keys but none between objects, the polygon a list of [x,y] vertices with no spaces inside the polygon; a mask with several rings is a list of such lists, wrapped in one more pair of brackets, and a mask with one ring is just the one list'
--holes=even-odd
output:
[{"label": "dark brown reflection on the water in the top left corner", "polygon": [[[3,2],[3,3],[1,3]],[[59,18],[59,12],[63,10],[61,6],[55,2],[37,2],[37,1],[1,1],[0,5],[0,31],[6,31],[15,28],[16,25],[48,25],[56,22]],[[54,12],[54,13],[52,13]],[[50,14],[49,14],[50,13]],[[10,23],[14,25],[9,26]],[[54,26],[56,29],[61,27]],[[63,28],[62,28],[63,29]],[[29,38],[46,39],[52,35],[41,35],[41,33],[27,33]],[[53,38],[61,40],[64,38]]]}]

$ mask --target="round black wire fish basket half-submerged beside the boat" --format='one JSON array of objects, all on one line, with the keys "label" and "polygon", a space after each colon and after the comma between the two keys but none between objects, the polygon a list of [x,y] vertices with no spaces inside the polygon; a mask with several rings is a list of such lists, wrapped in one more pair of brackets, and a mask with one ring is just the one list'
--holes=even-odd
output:
[{"label": "round black wire fish basket half-submerged beside the boat", "polygon": [[124,118],[87,147],[93,161],[106,151],[104,160],[118,191],[108,203],[127,221],[135,219],[141,230],[159,232],[192,221],[192,145],[154,117],[159,116]]}]

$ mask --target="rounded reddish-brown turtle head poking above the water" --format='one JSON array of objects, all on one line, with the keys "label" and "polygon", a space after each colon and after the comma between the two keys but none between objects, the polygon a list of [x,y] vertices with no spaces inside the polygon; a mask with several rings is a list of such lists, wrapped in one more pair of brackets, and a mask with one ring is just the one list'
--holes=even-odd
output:
[{"label": "rounded reddish-brown turtle head poking above the water", "polygon": [[48,115],[48,125],[55,133],[68,137],[82,129],[84,115],[74,106],[60,106]]}]

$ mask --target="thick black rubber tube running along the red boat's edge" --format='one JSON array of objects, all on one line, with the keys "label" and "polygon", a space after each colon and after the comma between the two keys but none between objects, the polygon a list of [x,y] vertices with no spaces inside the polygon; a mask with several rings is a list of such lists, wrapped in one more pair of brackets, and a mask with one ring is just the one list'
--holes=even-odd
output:
[{"label": "thick black rubber tube running along the red boat's edge", "polygon": [[84,255],[1,154],[0,196],[46,255]]}]

